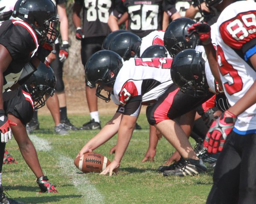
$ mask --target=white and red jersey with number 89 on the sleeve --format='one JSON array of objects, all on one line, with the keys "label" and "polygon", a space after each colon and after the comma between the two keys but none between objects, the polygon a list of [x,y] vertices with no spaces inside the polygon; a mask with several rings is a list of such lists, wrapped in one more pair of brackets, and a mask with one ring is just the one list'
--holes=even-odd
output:
[{"label": "white and red jersey with number 89 on the sleeve", "polygon": [[[256,53],[256,3],[238,1],[230,4],[221,12],[217,26],[219,72],[232,106],[256,80],[256,71],[247,60]],[[234,131],[239,134],[256,132],[256,104],[238,116]]]}]

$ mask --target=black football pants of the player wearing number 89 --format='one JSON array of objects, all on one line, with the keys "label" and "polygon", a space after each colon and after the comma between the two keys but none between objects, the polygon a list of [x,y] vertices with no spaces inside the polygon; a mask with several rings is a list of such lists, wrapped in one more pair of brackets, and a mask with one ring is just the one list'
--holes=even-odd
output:
[{"label": "black football pants of the player wearing number 89", "polygon": [[207,204],[256,203],[256,133],[231,132],[217,160]]}]

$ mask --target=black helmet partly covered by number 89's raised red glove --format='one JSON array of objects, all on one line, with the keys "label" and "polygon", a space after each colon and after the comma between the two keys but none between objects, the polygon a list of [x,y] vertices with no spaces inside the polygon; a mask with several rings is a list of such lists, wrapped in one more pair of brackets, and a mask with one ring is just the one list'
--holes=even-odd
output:
[{"label": "black helmet partly covered by number 89's raised red glove", "polygon": [[175,57],[180,51],[192,48],[198,44],[198,39],[195,35],[190,37],[187,29],[195,23],[194,20],[186,17],[181,17],[173,20],[166,28],[163,42],[171,57]]}]

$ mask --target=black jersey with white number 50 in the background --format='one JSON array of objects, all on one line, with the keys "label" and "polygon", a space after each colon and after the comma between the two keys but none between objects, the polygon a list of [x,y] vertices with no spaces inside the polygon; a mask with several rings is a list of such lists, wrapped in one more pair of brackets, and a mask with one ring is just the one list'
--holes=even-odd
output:
[{"label": "black jersey with white number 50 in the background", "polygon": [[[175,2],[175,0],[124,0],[125,10],[121,13],[128,12],[128,30],[142,38],[152,31],[162,30],[163,11],[172,16],[177,12]],[[113,15],[120,16],[116,7]]]}]

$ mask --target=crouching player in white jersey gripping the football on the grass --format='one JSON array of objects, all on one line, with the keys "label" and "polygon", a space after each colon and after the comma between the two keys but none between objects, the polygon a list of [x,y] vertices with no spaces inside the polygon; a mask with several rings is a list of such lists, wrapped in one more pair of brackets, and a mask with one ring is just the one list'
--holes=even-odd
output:
[{"label": "crouching player in white jersey gripping the football on the grass", "polygon": [[[119,105],[113,118],[102,128],[102,130],[90,139],[80,150],[77,157],[82,158],[83,154],[95,150],[100,145],[111,139],[118,133],[115,158],[102,171],[101,174],[111,176],[113,171],[118,169],[120,162],[130,142],[137,117],[140,113],[141,105],[156,104],[160,107],[171,106],[163,104],[168,99],[169,94],[178,91],[177,86],[173,84],[170,77],[170,67],[172,58],[131,58],[123,62],[122,58],[113,51],[99,51],[93,54],[85,66],[85,75],[88,85],[98,84],[96,95],[106,101],[112,97],[113,102]],[[108,96],[101,94],[102,90],[107,91]],[[183,94],[181,92],[181,94]],[[172,94],[171,94],[172,95]],[[188,97],[190,97],[188,95]],[[165,100],[166,99],[166,100]],[[201,99],[190,97],[186,102],[200,103]],[[155,125],[163,136],[177,149],[184,158],[185,173],[182,176],[196,175],[207,171],[201,160],[196,156],[193,147],[189,143],[186,134],[173,120],[169,119],[169,107],[165,107],[166,112],[155,116],[155,109],[148,113],[148,122]],[[186,110],[188,107],[189,110]],[[194,107],[180,106],[177,114],[184,114]],[[170,132],[176,134],[171,135]],[[181,175],[180,175],[181,176]]]}]

